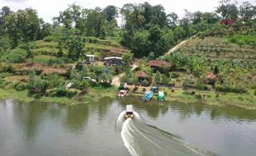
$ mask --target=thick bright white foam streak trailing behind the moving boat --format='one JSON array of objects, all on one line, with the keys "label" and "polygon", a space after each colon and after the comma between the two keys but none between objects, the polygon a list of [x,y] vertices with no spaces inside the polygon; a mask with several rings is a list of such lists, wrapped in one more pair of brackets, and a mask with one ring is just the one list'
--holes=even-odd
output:
[{"label": "thick bright white foam streak trailing behind the moving boat", "polygon": [[126,149],[130,152],[133,156],[139,156],[139,154],[136,152],[134,147],[132,146],[134,137],[130,134],[130,122],[131,118],[126,119],[126,122],[124,122],[121,130],[121,138],[124,141],[124,145],[126,146]]}]

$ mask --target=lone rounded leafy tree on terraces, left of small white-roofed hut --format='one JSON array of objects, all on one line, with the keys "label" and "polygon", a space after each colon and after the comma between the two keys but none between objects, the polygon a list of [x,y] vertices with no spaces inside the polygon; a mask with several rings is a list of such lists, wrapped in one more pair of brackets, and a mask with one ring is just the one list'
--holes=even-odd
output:
[{"label": "lone rounded leafy tree on terraces, left of small white-roofed hut", "polygon": [[67,40],[68,48],[68,58],[72,60],[78,60],[78,58],[83,54],[83,42],[80,36],[74,36],[73,38]]}]

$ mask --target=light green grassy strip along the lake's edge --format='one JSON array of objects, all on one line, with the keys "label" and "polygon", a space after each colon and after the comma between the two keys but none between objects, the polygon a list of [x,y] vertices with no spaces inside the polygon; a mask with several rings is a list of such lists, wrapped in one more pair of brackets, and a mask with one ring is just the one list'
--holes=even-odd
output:
[{"label": "light green grassy strip along the lake's edge", "polygon": [[[178,103],[201,103],[202,105],[215,105],[215,106],[235,106],[244,108],[247,110],[256,110],[255,96],[250,94],[233,94],[233,93],[218,93],[213,91],[199,91],[199,94],[204,94],[204,99],[198,99],[198,94],[189,94],[191,90],[176,89],[175,92],[171,92],[168,89],[164,89],[166,95],[166,101],[178,102]],[[117,88],[111,87],[110,89],[90,89],[90,93],[83,96],[75,96],[74,98],[66,97],[41,97],[40,99],[34,99],[27,96],[27,90],[17,91],[15,89],[0,89],[0,99],[16,99],[25,103],[58,103],[66,105],[77,105],[97,102],[99,99],[108,97],[117,98]],[[143,94],[128,93],[129,96],[143,96]],[[154,99],[156,97],[154,96]]]}]

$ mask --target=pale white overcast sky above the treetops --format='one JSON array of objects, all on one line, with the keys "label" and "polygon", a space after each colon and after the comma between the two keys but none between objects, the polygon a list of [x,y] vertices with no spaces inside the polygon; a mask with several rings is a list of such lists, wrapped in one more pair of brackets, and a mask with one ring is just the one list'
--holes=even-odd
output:
[{"label": "pale white overcast sky above the treetops", "polygon": [[[188,11],[214,11],[220,0],[147,0],[151,5],[161,4],[166,13],[175,12],[179,17],[184,15],[184,9]],[[36,9],[38,16],[44,21],[52,23],[52,18],[64,11],[69,4],[76,3],[84,8],[107,7],[114,5],[122,7],[126,3],[143,3],[145,0],[0,0],[0,8],[11,7],[12,11],[31,7]],[[254,3],[255,0],[249,0]]]}]

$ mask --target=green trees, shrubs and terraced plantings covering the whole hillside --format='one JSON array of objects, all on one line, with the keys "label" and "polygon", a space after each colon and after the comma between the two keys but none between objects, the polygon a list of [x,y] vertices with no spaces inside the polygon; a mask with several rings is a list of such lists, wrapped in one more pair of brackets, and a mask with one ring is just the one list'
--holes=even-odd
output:
[{"label": "green trees, shrubs and terraced plantings covering the whole hillside", "polygon": [[[255,15],[253,4],[238,6],[230,0],[221,1],[212,12],[186,10],[181,18],[148,2],[121,9],[71,4],[49,24],[32,8],[2,7],[0,88],[6,93],[0,96],[16,90],[22,98],[28,95],[24,99],[80,102],[99,92],[114,93],[111,80],[124,73],[121,82],[128,85],[178,89],[177,96],[172,92],[177,99],[216,103],[237,95],[249,105],[256,89]],[[117,16],[123,25],[117,25]],[[165,55],[184,39],[189,39],[186,44]],[[86,64],[88,54],[96,62]],[[104,57],[122,57],[126,66],[105,67]],[[155,59],[171,66],[149,67]],[[130,71],[133,62],[139,67]]]}]

